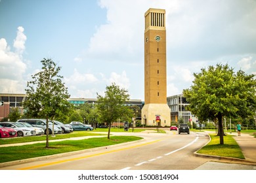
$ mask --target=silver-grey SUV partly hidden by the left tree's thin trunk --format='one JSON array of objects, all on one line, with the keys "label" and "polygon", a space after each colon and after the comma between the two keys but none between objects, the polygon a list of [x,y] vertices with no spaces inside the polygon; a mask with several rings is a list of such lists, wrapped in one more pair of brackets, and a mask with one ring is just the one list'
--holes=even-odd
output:
[{"label": "silver-grey SUV partly hidden by the left tree's thin trunk", "polygon": [[[46,120],[41,120],[41,119],[22,119],[18,120],[17,122],[26,122],[28,124],[31,124],[34,127],[41,127],[45,131],[46,134]],[[48,122],[49,125],[49,134],[52,134],[53,132],[53,123]],[[62,133],[62,129],[59,125],[54,125],[54,134],[56,133]]]}]

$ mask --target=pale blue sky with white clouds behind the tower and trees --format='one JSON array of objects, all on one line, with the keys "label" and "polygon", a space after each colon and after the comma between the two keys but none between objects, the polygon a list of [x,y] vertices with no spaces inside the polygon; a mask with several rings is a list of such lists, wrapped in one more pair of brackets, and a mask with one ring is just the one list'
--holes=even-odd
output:
[{"label": "pale blue sky with white clouds behind the tower and trees", "polygon": [[167,96],[217,63],[256,74],[255,0],[0,0],[0,92],[25,93],[51,58],[71,97],[116,82],[144,100],[144,12],[166,10]]}]

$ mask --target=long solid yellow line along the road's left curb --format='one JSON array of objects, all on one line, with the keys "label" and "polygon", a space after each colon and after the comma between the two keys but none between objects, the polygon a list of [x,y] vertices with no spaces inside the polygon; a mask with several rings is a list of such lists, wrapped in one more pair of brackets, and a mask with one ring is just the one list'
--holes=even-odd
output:
[{"label": "long solid yellow line along the road's left curb", "polygon": [[[165,139],[166,139],[166,138],[165,138]],[[163,139],[162,139],[162,140],[163,140]],[[118,151],[121,151],[121,150],[127,150],[127,149],[131,149],[131,148],[137,148],[137,147],[139,147],[139,146],[145,146],[145,145],[153,144],[153,143],[159,142],[159,141],[161,141],[161,139],[160,139],[160,140],[156,140],[156,141],[152,141],[152,142],[146,142],[146,143],[144,143],[144,144],[139,144],[139,145],[136,145],[136,146],[126,147],[126,148],[120,148],[120,149],[117,149],[117,150],[110,150],[110,151],[108,151],[108,152],[101,152],[101,153],[98,153],[98,154],[92,154],[92,155],[82,156],[82,157],[79,157],[79,158],[64,159],[64,160],[60,160],[60,161],[54,161],[54,162],[51,162],[51,163],[44,163],[44,164],[41,164],[41,165],[34,165],[34,166],[31,166],[31,167],[24,167],[24,168],[21,168],[21,169],[18,169],[18,170],[36,169],[36,168],[39,168],[39,167],[45,167],[45,166],[49,166],[49,165],[55,165],[55,164],[58,164],[58,163],[64,163],[64,162],[68,162],[68,161],[74,161],[74,160],[79,160],[79,159],[91,158],[91,157],[94,157],[94,156],[100,156],[100,155],[103,155],[103,154],[109,154],[109,153],[118,152]]]}]

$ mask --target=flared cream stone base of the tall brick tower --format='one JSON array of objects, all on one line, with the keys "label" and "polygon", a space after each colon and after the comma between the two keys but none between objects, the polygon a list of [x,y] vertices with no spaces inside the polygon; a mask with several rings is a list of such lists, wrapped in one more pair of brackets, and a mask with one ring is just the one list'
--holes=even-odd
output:
[{"label": "flared cream stone base of the tall brick tower", "polygon": [[[156,116],[160,116],[160,122],[156,122]],[[150,103],[144,105],[141,111],[141,124],[152,126],[171,125],[171,110],[167,104]]]}]

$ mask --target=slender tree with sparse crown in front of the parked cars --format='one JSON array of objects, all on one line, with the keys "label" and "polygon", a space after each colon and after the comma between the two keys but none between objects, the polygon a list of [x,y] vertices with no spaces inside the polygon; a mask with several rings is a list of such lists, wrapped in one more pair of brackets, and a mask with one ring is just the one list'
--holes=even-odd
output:
[{"label": "slender tree with sparse crown in front of the parked cars", "polygon": [[59,117],[70,109],[68,88],[62,83],[62,76],[58,75],[60,67],[51,59],[41,61],[43,67],[39,73],[32,75],[26,89],[27,100],[24,108],[30,116],[47,120],[46,147],[49,147],[49,120]]}]

